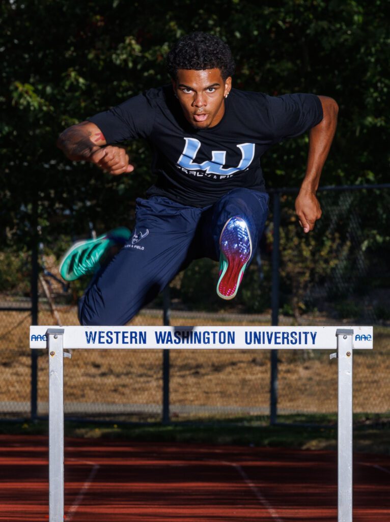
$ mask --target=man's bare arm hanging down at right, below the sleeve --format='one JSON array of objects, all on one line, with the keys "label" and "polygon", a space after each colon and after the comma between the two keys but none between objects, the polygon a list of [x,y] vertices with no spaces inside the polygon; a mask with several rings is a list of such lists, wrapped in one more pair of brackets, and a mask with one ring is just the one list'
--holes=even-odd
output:
[{"label": "man's bare arm hanging down at right, below the sleeve", "polygon": [[321,207],[315,193],[337,125],[338,105],[335,100],[326,96],[319,96],[319,99],[324,117],[318,125],[310,129],[306,175],[295,201],[299,223],[306,233],[313,230],[315,221],[321,217]]}]

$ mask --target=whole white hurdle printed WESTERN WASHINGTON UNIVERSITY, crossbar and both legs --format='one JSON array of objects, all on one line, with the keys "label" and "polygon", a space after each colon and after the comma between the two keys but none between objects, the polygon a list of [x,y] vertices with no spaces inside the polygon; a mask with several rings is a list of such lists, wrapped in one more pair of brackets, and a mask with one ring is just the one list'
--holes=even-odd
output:
[{"label": "whole white hurdle printed WESTERN WASHINGTON UNIVERSITY, crossbar and both legs", "polygon": [[352,522],[352,353],[372,347],[371,326],[31,326],[30,348],[48,348],[49,522],[64,521],[64,357],[70,357],[64,349],[335,350],[337,520]]}]

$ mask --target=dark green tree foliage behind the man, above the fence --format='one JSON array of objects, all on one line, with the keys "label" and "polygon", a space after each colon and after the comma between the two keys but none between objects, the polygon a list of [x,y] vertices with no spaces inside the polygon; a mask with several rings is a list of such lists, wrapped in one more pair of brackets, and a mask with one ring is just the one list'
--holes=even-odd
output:
[{"label": "dark green tree foliage behind the man, above the fence", "polygon": [[[133,201],[152,181],[148,146],[131,144],[137,171],[114,179],[65,160],[56,137],[169,81],[169,45],[197,29],[229,42],[237,87],[314,92],[338,101],[324,183],[385,181],[389,11],[388,2],[368,0],[3,2],[1,212],[9,238],[25,235],[34,201],[53,231],[79,233],[90,219],[104,228],[129,220]],[[290,140],[264,158],[269,186],[299,184],[306,141]]]}]

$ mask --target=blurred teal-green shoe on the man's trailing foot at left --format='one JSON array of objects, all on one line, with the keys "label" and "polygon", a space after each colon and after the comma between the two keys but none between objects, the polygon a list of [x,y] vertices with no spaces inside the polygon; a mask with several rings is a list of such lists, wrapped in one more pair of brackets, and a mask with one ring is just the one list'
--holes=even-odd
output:
[{"label": "blurred teal-green shoe on the man's trailing foot at left", "polygon": [[60,261],[59,273],[65,281],[74,281],[81,276],[93,274],[99,268],[100,259],[108,248],[124,245],[131,238],[126,227],[119,227],[96,239],[78,241],[67,250]]}]

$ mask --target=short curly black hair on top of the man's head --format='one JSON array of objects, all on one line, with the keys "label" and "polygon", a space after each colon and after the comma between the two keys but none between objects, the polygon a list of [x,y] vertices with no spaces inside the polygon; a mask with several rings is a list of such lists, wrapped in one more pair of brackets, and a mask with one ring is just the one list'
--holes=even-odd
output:
[{"label": "short curly black hair on top of the man's head", "polygon": [[213,34],[196,31],[181,37],[166,57],[169,75],[177,69],[220,69],[223,80],[234,74],[236,64],[229,46]]}]

